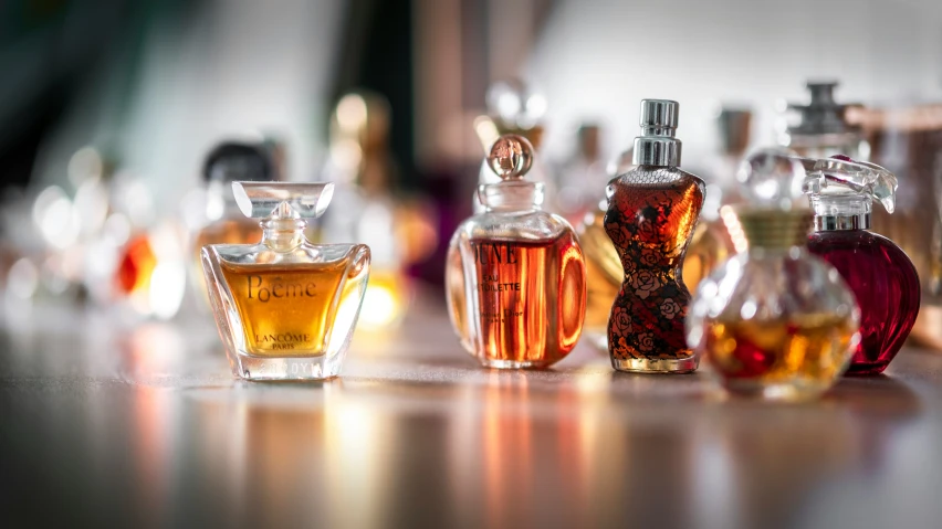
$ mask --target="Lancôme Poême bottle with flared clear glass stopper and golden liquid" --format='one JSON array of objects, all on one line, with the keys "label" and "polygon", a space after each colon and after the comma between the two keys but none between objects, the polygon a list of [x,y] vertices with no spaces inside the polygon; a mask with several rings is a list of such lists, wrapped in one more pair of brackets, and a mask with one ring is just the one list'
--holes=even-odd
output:
[{"label": "Lanc\u00f4me Po\u00eame bottle with flared clear glass stopper and golden liquid", "polygon": [[320,380],[339,374],[369,276],[369,247],[311,244],[333,183],[233,182],[258,244],[202,248],[212,311],[236,375]]}]

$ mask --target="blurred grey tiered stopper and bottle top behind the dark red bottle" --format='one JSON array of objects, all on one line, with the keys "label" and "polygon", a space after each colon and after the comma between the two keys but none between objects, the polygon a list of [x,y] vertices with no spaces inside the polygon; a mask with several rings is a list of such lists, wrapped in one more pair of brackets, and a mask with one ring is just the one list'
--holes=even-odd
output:
[{"label": "blurred grey tiered stopper and bottle top behind the dark red bottle", "polygon": [[788,104],[787,108],[797,114],[798,121],[779,134],[779,145],[808,158],[842,155],[855,160],[868,160],[870,144],[860,127],[847,119],[847,110],[859,105],[836,103],[836,82],[809,82],[807,86],[810,102],[807,105]]}]

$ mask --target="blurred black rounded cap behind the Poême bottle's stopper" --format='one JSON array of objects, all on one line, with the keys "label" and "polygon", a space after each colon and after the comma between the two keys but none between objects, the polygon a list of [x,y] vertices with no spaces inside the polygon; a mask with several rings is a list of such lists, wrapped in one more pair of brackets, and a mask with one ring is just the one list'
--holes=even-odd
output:
[{"label": "blurred black rounded cap behind the Po\u00eame bottle's stopper", "polygon": [[261,144],[223,141],[207,155],[202,178],[207,182],[271,181],[275,180],[274,161]]}]

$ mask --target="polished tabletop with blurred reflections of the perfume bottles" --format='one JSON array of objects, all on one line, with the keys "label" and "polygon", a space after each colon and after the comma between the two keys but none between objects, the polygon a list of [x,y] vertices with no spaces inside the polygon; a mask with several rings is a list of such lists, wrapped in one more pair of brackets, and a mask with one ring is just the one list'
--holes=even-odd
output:
[{"label": "polished tabletop with blurred reflections of the perfume bottles", "polygon": [[[443,304],[358,332],[343,375],[233,380],[201,317],[7,307],[0,517],[12,527],[942,527],[942,353],[809,404],[580,345],[481,369]],[[431,300],[429,300],[431,299]],[[6,523],[4,523],[6,526]],[[11,527],[11,526],[6,526]]]}]

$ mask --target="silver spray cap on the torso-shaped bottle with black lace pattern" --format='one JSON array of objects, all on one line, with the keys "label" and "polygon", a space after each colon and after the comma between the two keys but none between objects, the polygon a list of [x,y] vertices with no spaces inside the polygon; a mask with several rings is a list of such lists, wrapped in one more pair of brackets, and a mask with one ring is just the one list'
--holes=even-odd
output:
[{"label": "silver spray cap on the torso-shaped bottle with black lace pattern", "polygon": [[668,99],[641,99],[641,136],[635,138],[636,166],[677,167],[680,140],[674,138],[680,105]]}]

